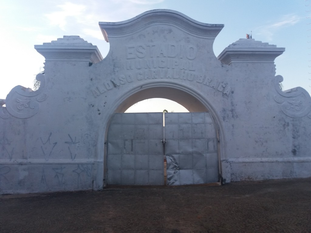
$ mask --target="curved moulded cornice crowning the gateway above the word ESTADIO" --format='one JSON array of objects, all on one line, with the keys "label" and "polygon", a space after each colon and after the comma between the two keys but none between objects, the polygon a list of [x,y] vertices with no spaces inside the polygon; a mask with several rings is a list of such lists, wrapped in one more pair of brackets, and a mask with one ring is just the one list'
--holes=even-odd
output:
[{"label": "curved moulded cornice crowning the gateway above the word ESTADIO", "polygon": [[121,22],[99,22],[104,38],[127,37],[150,27],[151,25],[169,25],[183,32],[205,39],[215,39],[223,24],[206,24],[172,10],[146,11],[132,19]]}]

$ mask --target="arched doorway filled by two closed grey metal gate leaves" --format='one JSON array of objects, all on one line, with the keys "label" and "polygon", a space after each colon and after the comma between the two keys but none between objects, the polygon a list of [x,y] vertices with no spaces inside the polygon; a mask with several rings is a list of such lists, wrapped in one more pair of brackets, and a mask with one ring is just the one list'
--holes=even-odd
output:
[{"label": "arched doorway filled by two closed grey metal gate leaves", "polygon": [[[147,98],[167,98],[189,113],[124,113]],[[208,102],[169,85],[141,87],[120,101],[108,126],[108,185],[188,185],[219,181],[219,129]],[[165,143],[163,143],[165,142]],[[165,144],[165,150],[163,150]],[[164,152],[164,153],[163,153]]]}]

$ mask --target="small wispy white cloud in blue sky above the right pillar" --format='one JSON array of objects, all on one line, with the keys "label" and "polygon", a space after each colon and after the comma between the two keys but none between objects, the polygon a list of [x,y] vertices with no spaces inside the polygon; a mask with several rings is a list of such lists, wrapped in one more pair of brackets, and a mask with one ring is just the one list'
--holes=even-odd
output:
[{"label": "small wispy white cloud in blue sky above the right pillar", "polygon": [[285,15],[279,21],[260,26],[255,29],[258,35],[263,35],[267,38],[267,40],[272,40],[273,35],[276,33],[277,30],[281,28],[288,27],[295,25],[298,23],[302,18],[296,15]]}]

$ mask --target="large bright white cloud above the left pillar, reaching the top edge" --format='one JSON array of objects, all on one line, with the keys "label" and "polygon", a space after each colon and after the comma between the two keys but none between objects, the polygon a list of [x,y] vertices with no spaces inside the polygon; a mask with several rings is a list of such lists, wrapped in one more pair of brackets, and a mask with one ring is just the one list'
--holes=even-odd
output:
[{"label": "large bright white cloud above the left pillar, reaching the top edge", "polygon": [[128,20],[164,0],[80,0],[79,4],[70,1],[57,5],[56,11],[45,14],[49,24],[58,26],[67,34],[86,34],[102,40],[98,22]]}]

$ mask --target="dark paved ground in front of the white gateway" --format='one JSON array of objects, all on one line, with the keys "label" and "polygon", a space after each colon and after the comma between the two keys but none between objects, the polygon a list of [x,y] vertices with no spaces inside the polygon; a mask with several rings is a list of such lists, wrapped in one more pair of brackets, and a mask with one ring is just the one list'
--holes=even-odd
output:
[{"label": "dark paved ground in front of the white gateway", "polygon": [[311,179],[2,195],[0,232],[311,232]]}]

